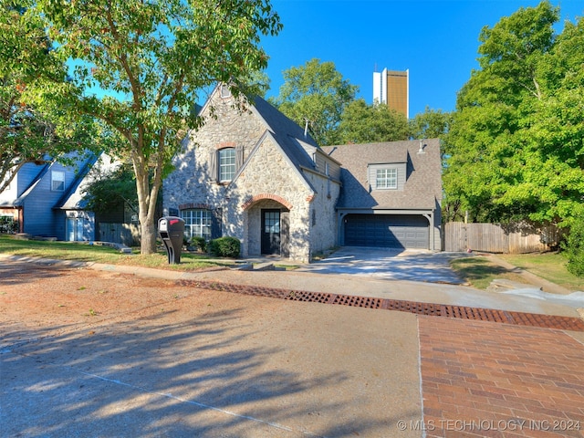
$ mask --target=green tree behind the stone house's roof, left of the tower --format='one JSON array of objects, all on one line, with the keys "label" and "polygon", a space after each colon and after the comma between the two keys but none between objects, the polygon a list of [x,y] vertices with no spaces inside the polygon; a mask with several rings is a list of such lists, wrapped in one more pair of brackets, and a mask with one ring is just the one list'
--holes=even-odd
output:
[{"label": "green tree behind the stone house's roof, left of the tower", "polygon": [[310,59],[284,71],[279,95],[269,99],[290,119],[306,126],[321,146],[339,143],[339,122],[359,87],[343,78],[333,62]]}]

